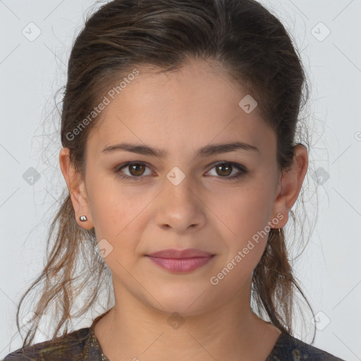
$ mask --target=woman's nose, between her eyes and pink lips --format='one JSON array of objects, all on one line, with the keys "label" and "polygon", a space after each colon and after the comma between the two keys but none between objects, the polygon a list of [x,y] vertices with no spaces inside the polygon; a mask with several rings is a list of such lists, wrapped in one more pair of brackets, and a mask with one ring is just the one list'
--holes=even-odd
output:
[{"label": "woman's nose, between her eyes and pink lips", "polygon": [[198,230],[206,223],[204,202],[197,192],[197,185],[185,176],[178,185],[164,179],[164,189],[157,197],[157,225],[163,229],[184,233]]}]

